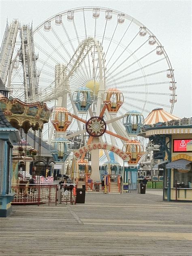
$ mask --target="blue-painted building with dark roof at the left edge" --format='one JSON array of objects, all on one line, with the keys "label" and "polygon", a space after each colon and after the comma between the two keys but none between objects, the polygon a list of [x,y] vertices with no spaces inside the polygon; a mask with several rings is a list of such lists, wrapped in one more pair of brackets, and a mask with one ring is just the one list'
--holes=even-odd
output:
[{"label": "blue-painted building with dark roof at the left edge", "polygon": [[20,140],[19,132],[13,128],[0,109],[0,217],[11,213],[12,149],[13,143]]}]

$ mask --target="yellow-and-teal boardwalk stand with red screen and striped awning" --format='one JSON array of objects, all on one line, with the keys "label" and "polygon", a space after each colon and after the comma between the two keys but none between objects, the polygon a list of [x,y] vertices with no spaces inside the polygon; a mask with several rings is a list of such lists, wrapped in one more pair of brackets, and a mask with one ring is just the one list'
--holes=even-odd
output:
[{"label": "yellow-and-teal boardwalk stand with red screen and striped awning", "polygon": [[154,158],[163,169],[163,200],[192,201],[192,117],[158,121],[145,124],[142,135],[159,146]]}]

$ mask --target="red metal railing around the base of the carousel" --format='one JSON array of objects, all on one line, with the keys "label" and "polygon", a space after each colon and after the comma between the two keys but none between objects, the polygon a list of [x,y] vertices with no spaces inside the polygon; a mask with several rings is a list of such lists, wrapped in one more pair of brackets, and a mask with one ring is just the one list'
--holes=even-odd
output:
[{"label": "red metal railing around the base of the carousel", "polygon": [[15,193],[13,205],[43,203],[57,205],[58,186],[55,184],[13,184],[11,190]]}]

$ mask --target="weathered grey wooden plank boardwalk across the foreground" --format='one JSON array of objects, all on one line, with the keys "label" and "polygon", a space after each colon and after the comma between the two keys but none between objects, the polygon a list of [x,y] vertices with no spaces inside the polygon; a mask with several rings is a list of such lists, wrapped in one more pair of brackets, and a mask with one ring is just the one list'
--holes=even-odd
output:
[{"label": "weathered grey wooden plank boardwalk across the foreground", "polygon": [[149,191],[14,206],[0,219],[0,255],[192,255],[192,203],[163,202]]}]

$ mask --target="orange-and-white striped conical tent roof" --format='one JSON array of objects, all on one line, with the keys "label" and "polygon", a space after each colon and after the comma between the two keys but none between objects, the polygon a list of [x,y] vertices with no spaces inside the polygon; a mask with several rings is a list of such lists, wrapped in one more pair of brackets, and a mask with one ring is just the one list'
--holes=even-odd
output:
[{"label": "orange-and-white striped conical tent roof", "polygon": [[145,118],[145,124],[156,124],[158,122],[166,122],[173,119],[181,119],[171,113],[166,112],[164,109],[154,109]]}]

